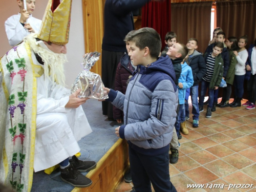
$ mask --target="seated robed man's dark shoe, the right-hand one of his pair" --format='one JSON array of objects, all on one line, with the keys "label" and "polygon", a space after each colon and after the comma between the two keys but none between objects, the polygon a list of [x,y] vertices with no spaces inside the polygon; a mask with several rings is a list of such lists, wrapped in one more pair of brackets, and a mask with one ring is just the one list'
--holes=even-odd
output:
[{"label": "seated robed man's dark shoe, the right-hand one of his pair", "polygon": [[79,172],[89,172],[96,167],[95,161],[81,161],[77,159],[76,156],[73,156],[72,159],[69,160],[70,164],[74,166]]}]

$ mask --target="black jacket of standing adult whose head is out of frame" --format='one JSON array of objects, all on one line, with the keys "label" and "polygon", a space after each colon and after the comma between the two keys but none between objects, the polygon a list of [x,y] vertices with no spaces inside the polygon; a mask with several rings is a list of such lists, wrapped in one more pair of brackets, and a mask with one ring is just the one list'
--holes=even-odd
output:
[{"label": "black jacket of standing adult whose head is out of frame", "polygon": [[102,50],[126,52],[124,37],[134,30],[133,14],[150,0],[106,0]]}]

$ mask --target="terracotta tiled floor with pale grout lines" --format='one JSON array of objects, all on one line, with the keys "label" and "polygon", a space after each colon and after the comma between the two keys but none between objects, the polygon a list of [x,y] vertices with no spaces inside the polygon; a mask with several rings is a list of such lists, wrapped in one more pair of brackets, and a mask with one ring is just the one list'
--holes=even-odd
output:
[{"label": "terracotta tiled floor with pale grout lines", "polygon": [[[189,108],[191,112],[191,106]],[[179,161],[169,165],[170,181],[178,192],[255,192],[256,109],[246,110],[243,106],[217,107],[211,118],[205,118],[206,108],[205,105],[204,112],[200,113],[199,127],[196,129],[192,127],[190,113],[190,119],[186,122],[189,134],[182,135],[182,139],[179,140]],[[187,188],[187,184],[205,184],[205,188]],[[210,184],[212,188],[209,188]],[[216,188],[217,185],[214,184],[221,185]],[[247,188],[232,187],[228,190],[229,184],[248,185],[244,185]],[[252,188],[248,188],[250,184],[253,184]],[[126,192],[131,189],[132,183],[123,181],[115,192]]]}]

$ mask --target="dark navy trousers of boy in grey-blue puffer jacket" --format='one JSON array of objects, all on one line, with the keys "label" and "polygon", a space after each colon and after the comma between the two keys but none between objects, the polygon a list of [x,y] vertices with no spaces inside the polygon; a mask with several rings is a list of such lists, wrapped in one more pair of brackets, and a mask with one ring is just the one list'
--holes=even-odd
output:
[{"label": "dark navy trousers of boy in grey-blue puffer jacket", "polygon": [[169,150],[148,156],[136,152],[129,145],[129,159],[136,192],[151,192],[151,183],[157,192],[177,192],[170,182]]}]

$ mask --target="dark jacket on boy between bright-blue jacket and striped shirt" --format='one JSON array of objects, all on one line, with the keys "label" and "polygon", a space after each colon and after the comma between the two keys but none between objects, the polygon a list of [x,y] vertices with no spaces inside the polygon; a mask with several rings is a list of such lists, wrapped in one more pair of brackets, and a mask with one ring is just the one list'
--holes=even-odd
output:
[{"label": "dark jacket on boy between bright-blue jacket and striped shirt", "polygon": [[199,82],[206,73],[206,65],[203,54],[195,50],[194,53],[186,59],[186,62],[193,72],[193,86],[198,86]]}]

